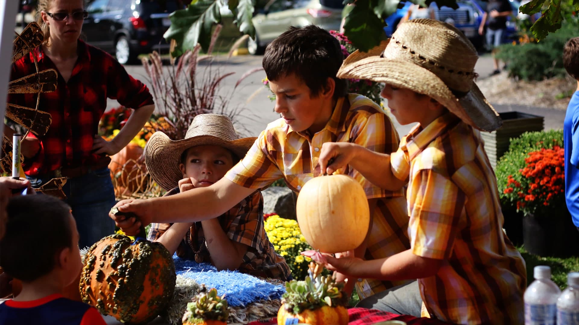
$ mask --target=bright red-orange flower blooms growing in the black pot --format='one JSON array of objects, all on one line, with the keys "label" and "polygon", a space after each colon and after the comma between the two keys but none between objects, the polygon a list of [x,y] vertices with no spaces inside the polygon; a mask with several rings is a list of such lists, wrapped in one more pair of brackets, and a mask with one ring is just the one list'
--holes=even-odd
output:
[{"label": "bright red-orange flower blooms growing in the black pot", "polygon": [[509,175],[505,197],[523,214],[553,215],[565,209],[565,150],[554,146],[530,152],[520,175]]}]

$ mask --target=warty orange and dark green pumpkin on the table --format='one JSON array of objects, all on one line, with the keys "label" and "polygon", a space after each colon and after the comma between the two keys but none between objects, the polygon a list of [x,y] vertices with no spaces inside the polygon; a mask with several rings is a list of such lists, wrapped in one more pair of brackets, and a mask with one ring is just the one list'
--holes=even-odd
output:
[{"label": "warty orange and dark green pumpkin on the table", "polygon": [[141,232],[134,242],[114,234],[94,243],[80,276],[82,301],[122,323],[150,322],[166,308],[175,289],[171,254],[162,243],[143,239],[142,227]]}]

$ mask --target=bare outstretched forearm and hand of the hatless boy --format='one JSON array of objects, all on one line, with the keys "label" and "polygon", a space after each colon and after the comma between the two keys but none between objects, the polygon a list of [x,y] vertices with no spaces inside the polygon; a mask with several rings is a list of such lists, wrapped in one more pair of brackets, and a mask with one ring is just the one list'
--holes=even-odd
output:
[{"label": "bare outstretched forearm and hand of the hatless boy", "polygon": [[115,205],[120,212],[135,213],[138,220],[111,213],[109,217],[127,235],[136,235],[141,224],[195,222],[218,217],[254,191],[222,178],[209,187],[148,200],[123,200]]}]

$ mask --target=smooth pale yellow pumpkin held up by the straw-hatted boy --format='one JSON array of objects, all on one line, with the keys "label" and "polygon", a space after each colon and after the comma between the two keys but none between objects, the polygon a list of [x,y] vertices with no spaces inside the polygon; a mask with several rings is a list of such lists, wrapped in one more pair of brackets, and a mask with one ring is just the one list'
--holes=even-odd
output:
[{"label": "smooth pale yellow pumpkin held up by the straw-hatted boy", "polygon": [[323,253],[357,248],[370,223],[364,189],[347,175],[318,176],[307,181],[298,195],[296,215],[303,237]]}]

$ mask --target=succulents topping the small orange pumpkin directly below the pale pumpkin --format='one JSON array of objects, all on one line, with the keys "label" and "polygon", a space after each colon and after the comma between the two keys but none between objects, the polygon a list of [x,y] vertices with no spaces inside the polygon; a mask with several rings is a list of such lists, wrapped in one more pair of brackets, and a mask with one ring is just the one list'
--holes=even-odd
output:
[{"label": "succulents topping the small orange pumpkin directly below the pale pumpkin", "polygon": [[283,308],[298,315],[306,310],[323,306],[345,306],[348,297],[343,293],[344,283],[337,283],[331,275],[322,276],[320,265],[310,263],[309,276],[303,281],[291,280],[285,283],[286,292],[282,296]]}]

